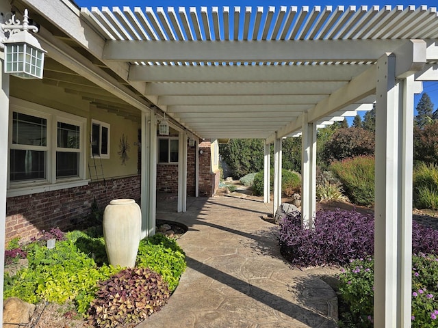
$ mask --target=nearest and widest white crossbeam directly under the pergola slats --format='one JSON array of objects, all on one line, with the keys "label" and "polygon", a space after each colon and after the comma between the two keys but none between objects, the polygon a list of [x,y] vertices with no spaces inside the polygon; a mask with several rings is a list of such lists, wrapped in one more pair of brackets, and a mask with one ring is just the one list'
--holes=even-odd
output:
[{"label": "nearest and widest white crossbeam directly under the pergola slats", "polygon": [[405,40],[107,40],[103,60],[114,61],[374,61]]}]

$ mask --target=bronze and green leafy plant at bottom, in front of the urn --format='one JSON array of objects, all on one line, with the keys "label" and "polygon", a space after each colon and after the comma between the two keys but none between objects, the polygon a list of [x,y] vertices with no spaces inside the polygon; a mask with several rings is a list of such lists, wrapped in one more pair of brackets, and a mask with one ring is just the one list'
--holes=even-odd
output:
[{"label": "bronze and green leafy plant at bottom, in front of the urn", "polygon": [[99,284],[96,299],[88,311],[88,324],[118,327],[138,323],[166,304],[168,284],[147,268],[120,271]]}]

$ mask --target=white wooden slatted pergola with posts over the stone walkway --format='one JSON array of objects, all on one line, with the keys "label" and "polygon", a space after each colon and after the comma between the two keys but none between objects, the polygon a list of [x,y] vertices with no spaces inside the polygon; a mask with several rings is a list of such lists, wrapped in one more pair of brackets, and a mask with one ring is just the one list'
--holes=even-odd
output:
[{"label": "white wooden slatted pergola with posts over the stone walkway", "polygon": [[[188,136],[264,139],[265,186],[273,143],[274,210],[281,202],[281,139],[300,133],[302,217],[311,225],[317,128],[375,103],[374,327],[411,327],[413,94],[422,81],[438,81],[435,8],[14,5],[41,22],[37,38],[50,58],[46,83],[109,111],[141,113],[145,233],[155,226],[156,133],[150,126],[164,113],[179,131],[181,154]],[[73,81],[79,78],[86,81]],[[8,107],[4,75],[1,85]],[[180,158],[178,209],[185,211]]]}]

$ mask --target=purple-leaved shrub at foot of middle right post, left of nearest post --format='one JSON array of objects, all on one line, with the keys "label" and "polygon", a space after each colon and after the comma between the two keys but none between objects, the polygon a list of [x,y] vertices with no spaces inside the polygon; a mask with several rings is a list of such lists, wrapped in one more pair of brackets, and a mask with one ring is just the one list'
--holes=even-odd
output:
[{"label": "purple-leaved shrub at foot of middle right post, left of nearest post", "polygon": [[319,211],[315,228],[308,230],[300,227],[300,213],[291,213],[279,224],[281,254],[298,267],[343,265],[374,254],[372,215],[339,209]]}]

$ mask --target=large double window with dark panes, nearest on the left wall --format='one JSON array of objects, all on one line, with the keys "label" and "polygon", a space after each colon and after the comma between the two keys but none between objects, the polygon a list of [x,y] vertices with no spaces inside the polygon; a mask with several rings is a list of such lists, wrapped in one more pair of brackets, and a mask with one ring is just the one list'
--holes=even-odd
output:
[{"label": "large double window with dark panes, nearest on the left wall", "polygon": [[86,118],[12,98],[8,187],[83,180],[85,122]]}]

